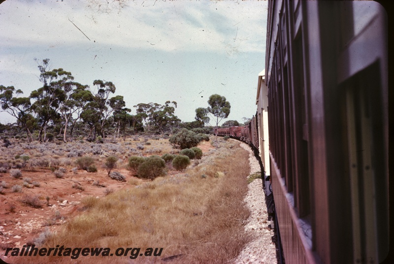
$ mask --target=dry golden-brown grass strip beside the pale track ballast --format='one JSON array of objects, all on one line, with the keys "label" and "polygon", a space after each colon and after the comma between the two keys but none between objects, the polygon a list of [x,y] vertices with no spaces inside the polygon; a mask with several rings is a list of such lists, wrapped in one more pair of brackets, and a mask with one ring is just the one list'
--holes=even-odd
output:
[{"label": "dry golden-brown grass strip beside the pale track ballast", "polygon": [[[180,156],[175,155],[173,161]],[[86,211],[57,233],[45,235],[42,246],[162,247],[160,258],[133,261],[159,263],[175,256],[171,263],[227,263],[250,239],[243,227],[249,216],[243,202],[248,156],[235,141],[219,140],[218,148],[204,153],[182,173],[158,176],[117,192],[108,190],[102,198],[86,197],[80,205]],[[144,162],[149,159],[165,163],[159,156]],[[29,257],[23,260],[30,261]],[[40,261],[69,263],[65,257]],[[83,262],[107,263],[108,258],[83,257]],[[130,259],[116,257],[111,262],[130,263]]]}]

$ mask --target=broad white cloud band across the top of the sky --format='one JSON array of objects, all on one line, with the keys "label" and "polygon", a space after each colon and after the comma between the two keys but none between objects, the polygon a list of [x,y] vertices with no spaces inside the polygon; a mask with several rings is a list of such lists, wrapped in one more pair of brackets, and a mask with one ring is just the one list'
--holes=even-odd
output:
[{"label": "broad white cloud band across the top of the sky", "polygon": [[48,48],[104,44],[164,51],[262,49],[266,2],[156,1],[152,5],[147,1],[150,6],[143,2],[132,1],[120,13],[107,14],[95,12],[83,1],[7,0],[0,5],[0,23],[6,25],[0,29],[0,39],[5,45]]}]

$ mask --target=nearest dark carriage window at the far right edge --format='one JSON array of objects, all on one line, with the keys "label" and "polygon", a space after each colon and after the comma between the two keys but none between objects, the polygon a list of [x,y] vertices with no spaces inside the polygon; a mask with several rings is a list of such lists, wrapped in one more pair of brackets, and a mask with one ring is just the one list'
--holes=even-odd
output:
[{"label": "nearest dark carriage window at the far right edge", "polygon": [[375,63],[343,85],[355,263],[379,263],[389,244],[388,173],[378,103],[379,77]]}]

